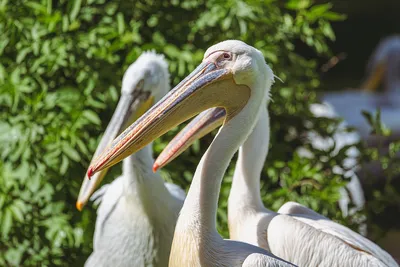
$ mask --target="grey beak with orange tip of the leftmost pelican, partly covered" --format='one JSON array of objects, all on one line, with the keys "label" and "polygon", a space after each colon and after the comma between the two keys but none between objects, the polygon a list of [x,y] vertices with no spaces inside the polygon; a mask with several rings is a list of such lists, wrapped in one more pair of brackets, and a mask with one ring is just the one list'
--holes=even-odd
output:
[{"label": "grey beak with orange tip of the leftmost pelican, partly covered", "polygon": [[[140,117],[153,105],[153,103],[154,97],[149,97],[148,92],[146,93],[141,90],[136,90],[134,94],[122,94],[111,121],[107,126],[96,152],[94,153],[92,162],[93,159],[97,157],[100,152],[103,151],[119,133],[121,133],[122,130],[124,130],[135,119]],[[100,185],[107,171],[108,169],[103,169],[101,172],[93,175],[91,179],[88,179],[89,176],[87,174],[85,175],[76,202],[76,208],[78,210],[81,211],[89,201],[90,196]]]}]

